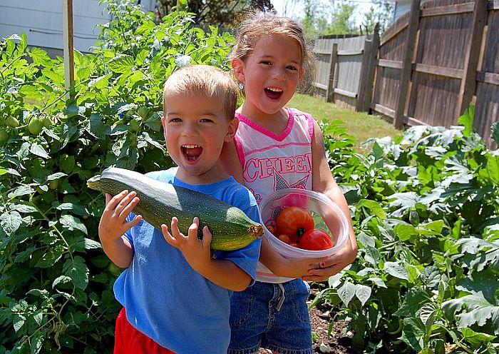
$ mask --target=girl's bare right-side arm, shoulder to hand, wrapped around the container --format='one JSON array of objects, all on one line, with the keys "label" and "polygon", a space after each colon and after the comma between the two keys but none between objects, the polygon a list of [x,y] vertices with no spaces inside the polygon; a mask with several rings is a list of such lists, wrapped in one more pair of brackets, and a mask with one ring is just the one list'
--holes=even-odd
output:
[{"label": "girl's bare right-side arm, shoulder to hand, wrapped around the container", "polygon": [[358,246],[355,237],[354,227],[352,226],[349,206],[346,203],[345,196],[341,188],[336,184],[329,169],[329,164],[324,151],[324,139],[322,138],[321,128],[314,120],[314,139],[312,141],[312,189],[324,193],[331,201],[336,203],[349,221],[349,239],[344,248],[338,253],[326,258],[324,261],[314,264],[314,269],[310,270],[312,275],[304,276],[304,280],[321,281],[326,280],[331,275],[339,273],[347,265],[353,263],[357,256]]}]

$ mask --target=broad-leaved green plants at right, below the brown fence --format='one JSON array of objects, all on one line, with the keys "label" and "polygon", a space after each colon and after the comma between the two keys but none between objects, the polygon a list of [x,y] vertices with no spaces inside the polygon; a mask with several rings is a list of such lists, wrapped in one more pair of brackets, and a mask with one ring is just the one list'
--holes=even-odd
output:
[{"label": "broad-leaved green plants at right, below the brown fence", "polygon": [[497,353],[499,153],[473,132],[473,106],[459,122],[371,141],[367,156],[324,128],[360,247],[315,303],[340,305],[358,350]]}]

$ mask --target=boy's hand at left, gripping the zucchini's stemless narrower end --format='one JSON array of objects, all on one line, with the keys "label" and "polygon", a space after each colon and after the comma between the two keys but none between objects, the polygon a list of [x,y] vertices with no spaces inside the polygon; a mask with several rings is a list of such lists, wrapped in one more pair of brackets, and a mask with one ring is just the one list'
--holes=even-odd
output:
[{"label": "boy's hand at left, gripping the zucchini's stemless narrower end", "polygon": [[128,214],[139,202],[137,193],[123,191],[111,197],[106,193],[106,208],[99,223],[99,238],[101,242],[113,242],[118,240],[129,228],[137,225],[142,216],[135,216],[133,221],[126,221]]}]

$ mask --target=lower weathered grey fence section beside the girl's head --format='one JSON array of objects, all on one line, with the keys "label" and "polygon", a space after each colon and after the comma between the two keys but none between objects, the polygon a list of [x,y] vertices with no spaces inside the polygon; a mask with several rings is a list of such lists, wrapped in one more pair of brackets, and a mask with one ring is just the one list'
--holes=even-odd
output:
[{"label": "lower weathered grey fence section beside the girl's head", "polygon": [[372,36],[324,36],[314,42],[317,75],[314,93],[356,111],[371,103],[374,59],[379,44],[376,28]]}]

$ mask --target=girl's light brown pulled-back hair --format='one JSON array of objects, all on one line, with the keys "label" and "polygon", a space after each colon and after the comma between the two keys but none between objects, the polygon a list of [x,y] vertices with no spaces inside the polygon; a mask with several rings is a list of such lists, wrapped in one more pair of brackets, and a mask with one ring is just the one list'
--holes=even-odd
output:
[{"label": "girl's light brown pulled-back hair", "polygon": [[308,48],[303,28],[289,17],[279,17],[272,14],[260,12],[249,12],[241,21],[236,35],[236,44],[232,48],[230,59],[246,61],[253,52],[257,41],[264,36],[272,35],[287,36],[297,41],[300,48],[300,69],[304,69],[304,80],[301,80],[300,89],[306,89],[315,76],[314,54]]}]

